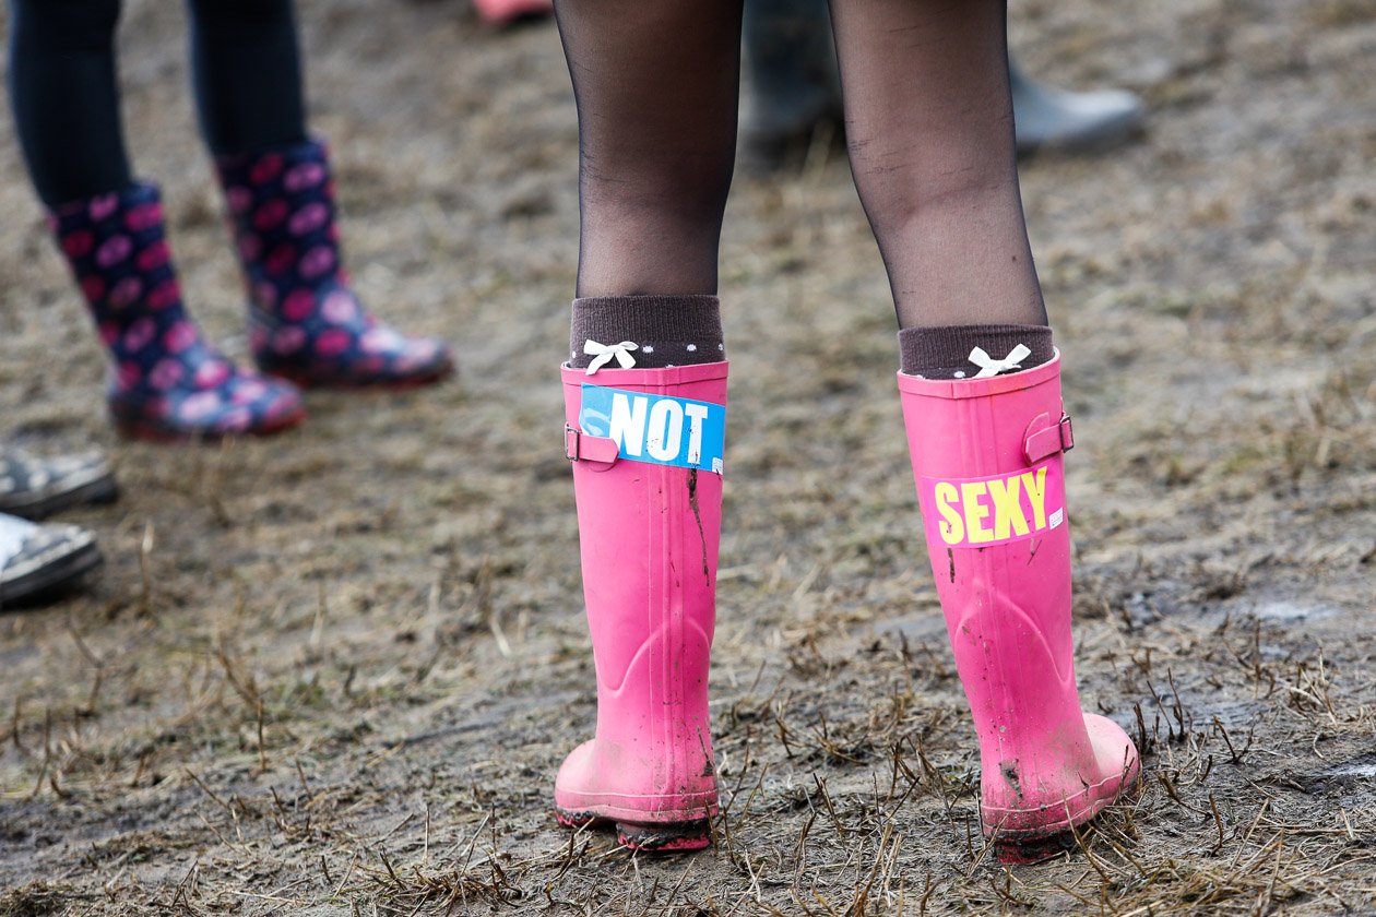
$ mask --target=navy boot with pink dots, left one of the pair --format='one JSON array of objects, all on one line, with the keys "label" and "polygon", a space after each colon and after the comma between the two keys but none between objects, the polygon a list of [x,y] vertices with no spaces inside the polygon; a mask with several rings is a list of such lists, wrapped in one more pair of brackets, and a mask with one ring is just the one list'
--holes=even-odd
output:
[{"label": "navy boot with pink dots, left one of the pair", "polygon": [[107,400],[120,433],[261,436],[305,417],[293,386],[235,367],[187,316],[157,187],[66,203],[48,220],[110,353]]}]

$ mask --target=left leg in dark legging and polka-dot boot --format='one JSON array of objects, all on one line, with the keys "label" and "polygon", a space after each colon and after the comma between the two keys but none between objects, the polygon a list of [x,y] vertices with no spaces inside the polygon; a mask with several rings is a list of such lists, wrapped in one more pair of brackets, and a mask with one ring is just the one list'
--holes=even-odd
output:
[{"label": "left leg in dark legging and polka-dot boot", "polygon": [[120,11],[118,0],[11,0],[8,87],[29,177],[110,355],[116,428],[176,440],[290,426],[304,417],[296,390],[235,367],[183,307],[161,195],[133,179],[124,143]]}]

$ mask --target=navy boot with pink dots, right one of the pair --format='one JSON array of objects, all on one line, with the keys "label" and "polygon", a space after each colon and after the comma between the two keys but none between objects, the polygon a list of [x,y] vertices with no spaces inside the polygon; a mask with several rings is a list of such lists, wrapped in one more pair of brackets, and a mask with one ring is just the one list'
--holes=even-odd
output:
[{"label": "navy boot with pink dots, right one of the pair", "polygon": [[409,388],[453,371],[444,344],[396,333],[350,289],[323,143],[220,157],[217,166],[259,368],[323,388]]}]

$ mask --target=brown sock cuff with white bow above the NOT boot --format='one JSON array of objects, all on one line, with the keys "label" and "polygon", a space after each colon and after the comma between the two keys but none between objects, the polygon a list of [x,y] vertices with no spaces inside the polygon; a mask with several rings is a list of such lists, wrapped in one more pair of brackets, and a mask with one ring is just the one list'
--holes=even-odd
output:
[{"label": "brown sock cuff with white bow above the NOT boot", "polygon": [[[568,364],[588,368],[599,357],[589,349],[622,348],[638,368],[663,368],[727,359],[721,337],[721,305],[714,296],[599,296],[574,300],[568,333]],[[589,342],[592,342],[589,345]],[[612,356],[608,370],[630,368]]]}]

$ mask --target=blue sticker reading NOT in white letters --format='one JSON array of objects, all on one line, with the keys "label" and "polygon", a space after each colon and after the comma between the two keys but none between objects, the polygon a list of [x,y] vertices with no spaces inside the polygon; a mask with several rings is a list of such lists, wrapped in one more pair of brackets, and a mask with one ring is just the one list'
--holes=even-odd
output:
[{"label": "blue sticker reading NOT in white letters", "polygon": [[727,408],[710,401],[583,385],[578,426],[616,443],[621,458],[721,474]]}]

